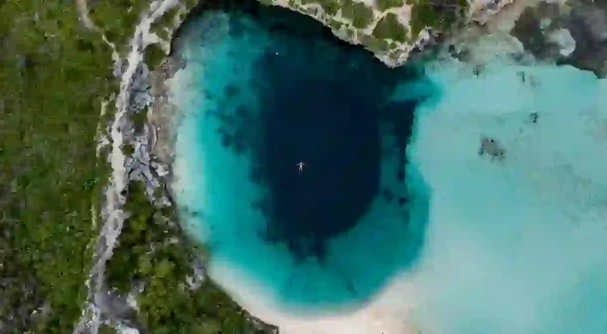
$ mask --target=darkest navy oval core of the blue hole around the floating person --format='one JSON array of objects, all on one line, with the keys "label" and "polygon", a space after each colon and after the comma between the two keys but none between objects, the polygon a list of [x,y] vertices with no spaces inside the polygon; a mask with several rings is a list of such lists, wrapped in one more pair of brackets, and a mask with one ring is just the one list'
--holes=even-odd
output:
[{"label": "darkest navy oval core of the blue hole around the floating person", "polygon": [[296,251],[309,246],[297,240],[310,240],[316,255],[322,240],[356,225],[379,190],[379,115],[371,99],[339,80],[283,86],[263,123],[270,233]]}]

